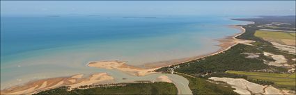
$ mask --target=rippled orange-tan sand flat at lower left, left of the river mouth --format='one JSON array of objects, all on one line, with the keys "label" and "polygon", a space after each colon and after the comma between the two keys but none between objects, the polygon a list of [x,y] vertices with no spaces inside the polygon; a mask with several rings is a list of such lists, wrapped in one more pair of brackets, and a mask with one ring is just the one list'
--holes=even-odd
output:
[{"label": "rippled orange-tan sand flat at lower left, left of the river mouth", "polygon": [[70,86],[70,89],[73,89],[81,85],[92,85],[103,82],[104,80],[114,79],[106,73],[93,74],[86,78],[82,78],[82,76],[84,75],[78,74],[70,77],[36,80],[24,85],[17,85],[8,89],[3,89],[1,90],[1,94],[35,94],[46,89],[53,89],[61,86]]}]

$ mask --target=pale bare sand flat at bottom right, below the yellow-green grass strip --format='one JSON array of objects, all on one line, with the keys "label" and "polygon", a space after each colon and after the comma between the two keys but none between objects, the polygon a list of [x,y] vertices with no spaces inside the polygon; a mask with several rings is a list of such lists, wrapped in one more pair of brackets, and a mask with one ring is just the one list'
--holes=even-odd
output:
[{"label": "pale bare sand flat at bottom right, below the yellow-green grass strip", "polygon": [[251,83],[243,78],[218,78],[211,77],[210,80],[222,81],[231,85],[235,88],[234,92],[238,94],[286,94],[282,93],[281,90],[276,89],[270,85],[258,85],[256,83]]}]

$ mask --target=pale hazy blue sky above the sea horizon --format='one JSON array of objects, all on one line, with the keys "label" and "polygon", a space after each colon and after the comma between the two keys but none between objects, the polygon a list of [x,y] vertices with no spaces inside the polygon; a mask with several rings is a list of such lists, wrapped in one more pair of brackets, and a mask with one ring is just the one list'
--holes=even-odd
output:
[{"label": "pale hazy blue sky above the sea horizon", "polygon": [[3,15],[295,15],[295,1],[1,1]]}]

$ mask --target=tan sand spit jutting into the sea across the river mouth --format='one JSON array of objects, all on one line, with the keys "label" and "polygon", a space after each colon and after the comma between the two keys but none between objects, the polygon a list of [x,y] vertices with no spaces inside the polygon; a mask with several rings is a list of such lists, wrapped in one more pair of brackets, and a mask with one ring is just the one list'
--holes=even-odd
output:
[{"label": "tan sand spit jutting into the sea across the river mouth", "polygon": [[136,76],[145,76],[147,74],[153,74],[155,69],[142,69],[139,67],[133,67],[125,64],[125,62],[120,62],[117,60],[114,61],[98,61],[98,62],[89,62],[88,67],[98,67],[103,69],[117,69],[120,71],[126,71],[130,74],[134,74]]}]

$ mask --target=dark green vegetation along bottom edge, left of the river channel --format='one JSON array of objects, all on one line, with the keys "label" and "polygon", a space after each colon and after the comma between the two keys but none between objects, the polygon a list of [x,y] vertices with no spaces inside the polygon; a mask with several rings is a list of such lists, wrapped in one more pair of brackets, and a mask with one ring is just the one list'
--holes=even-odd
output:
[{"label": "dark green vegetation along bottom edge, left of the river channel", "polygon": [[[120,86],[124,85],[124,86]],[[173,83],[123,83],[115,86],[93,87],[89,89],[73,89],[59,87],[39,92],[38,94],[177,94],[178,89]]]}]

